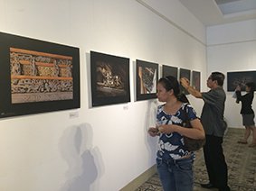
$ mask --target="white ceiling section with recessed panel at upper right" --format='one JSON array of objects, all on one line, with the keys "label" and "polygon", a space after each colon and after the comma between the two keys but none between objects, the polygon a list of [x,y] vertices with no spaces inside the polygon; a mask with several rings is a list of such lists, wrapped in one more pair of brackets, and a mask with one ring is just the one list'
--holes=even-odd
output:
[{"label": "white ceiling section with recessed panel at upper right", "polygon": [[256,0],[179,1],[205,26],[256,19]]}]

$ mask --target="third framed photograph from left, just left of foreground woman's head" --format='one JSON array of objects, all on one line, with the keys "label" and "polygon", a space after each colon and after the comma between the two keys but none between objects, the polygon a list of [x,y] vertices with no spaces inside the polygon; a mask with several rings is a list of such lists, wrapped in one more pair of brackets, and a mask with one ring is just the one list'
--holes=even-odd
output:
[{"label": "third framed photograph from left, just left of foreground woman's head", "polygon": [[136,60],[137,101],[156,98],[158,64]]}]

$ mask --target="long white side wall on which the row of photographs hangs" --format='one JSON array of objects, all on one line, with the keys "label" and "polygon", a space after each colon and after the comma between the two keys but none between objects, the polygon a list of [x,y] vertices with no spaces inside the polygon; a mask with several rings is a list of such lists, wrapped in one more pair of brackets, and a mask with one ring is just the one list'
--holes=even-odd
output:
[{"label": "long white side wall on which the row of photographs hangs", "polygon": [[[81,108],[0,119],[3,191],[115,191],[152,167],[159,103],[136,101],[136,59],[200,71],[207,90],[204,26],[177,0],[0,0],[0,32],[78,47],[81,59]],[[130,59],[131,102],[91,107],[90,50]]]}]

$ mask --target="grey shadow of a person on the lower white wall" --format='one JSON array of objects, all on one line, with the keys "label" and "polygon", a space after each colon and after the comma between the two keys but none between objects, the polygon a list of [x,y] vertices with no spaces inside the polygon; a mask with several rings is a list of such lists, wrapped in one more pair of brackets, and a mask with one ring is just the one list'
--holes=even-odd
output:
[{"label": "grey shadow of a person on the lower white wall", "polygon": [[68,163],[66,182],[60,191],[98,190],[95,186],[103,173],[100,150],[92,147],[92,128],[88,123],[67,128],[59,148]]}]

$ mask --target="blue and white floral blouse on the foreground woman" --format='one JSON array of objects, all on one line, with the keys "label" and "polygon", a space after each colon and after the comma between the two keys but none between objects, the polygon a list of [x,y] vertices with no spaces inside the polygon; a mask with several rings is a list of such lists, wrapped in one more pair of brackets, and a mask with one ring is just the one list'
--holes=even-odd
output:
[{"label": "blue and white floral blouse on the foreground woman", "polygon": [[[159,105],[157,107],[157,125],[177,124],[183,126],[185,121],[192,121],[196,118],[193,107],[187,103],[184,103],[174,115],[166,114],[164,105]],[[156,153],[157,159],[180,159],[189,153],[188,150],[185,150],[184,139],[180,133],[160,133]]]}]

